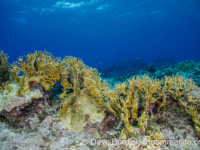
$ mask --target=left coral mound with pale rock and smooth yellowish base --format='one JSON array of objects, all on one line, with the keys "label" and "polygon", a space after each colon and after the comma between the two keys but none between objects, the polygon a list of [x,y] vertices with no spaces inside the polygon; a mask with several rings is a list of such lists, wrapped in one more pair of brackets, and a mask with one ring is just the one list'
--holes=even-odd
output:
[{"label": "left coral mound with pale rock and smooth yellowish base", "polygon": [[[10,92],[2,91],[3,111],[6,111],[7,101],[12,101],[16,96],[26,99],[27,102],[40,100],[43,101],[41,105],[44,105],[45,93],[53,89],[58,82],[63,87],[59,95],[62,103],[58,118],[61,122],[66,122],[66,127],[83,129],[86,115],[89,115],[89,120],[92,122],[102,121],[105,117],[106,105],[103,93],[107,92],[108,84],[101,80],[97,70],[84,65],[81,60],[65,57],[61,61],[50,53],[36,51],[27,55],[25,59],[20,57],[11,65],[10,72],[12,83],[9,85],[15,84],[15,89]],[[19,77],[20,72],[21,77]],[[2,112],[6,117],[9,116],[7,113],[7,111]]]}]

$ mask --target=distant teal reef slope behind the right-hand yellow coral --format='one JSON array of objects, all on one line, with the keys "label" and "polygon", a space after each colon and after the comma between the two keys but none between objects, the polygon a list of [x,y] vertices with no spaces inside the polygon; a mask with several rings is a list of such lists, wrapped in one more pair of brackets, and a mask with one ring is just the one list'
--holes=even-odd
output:
[{"label": "distant teal reef slope behind the right-hand yellow coral", "polygon": [[[156,59],[156,60],[171,60],[171,59]],[[157,61],[152,61],[157,62]],[[106,73],[102,72],[101,76],[105,78],[111,85],[114,85],[114,83],[120,83],[132,76],[140,76],[140,75],[148,75],[153,78],[162,79],[165,76],[172,76],[179,74],[183,76],[184,78],[191,78],[193,81],[200,86],[200,62],[198,61],[183,61],[179,63],[175,63],[175,61],[172,60],[171,62],[173,65],[162,65],[160,67],[160,64],[156,67],[154,64],[146,65],[142,69],[140,69],[138,72],[131,72],[130,74],[117,76],[118,70],[115,71],[116,76],[106,76]],[[155,63],[156,64],[156,63]],[[169,64],[169,63],[168,63]],[[111,66],[110,66],[111,68]]]}]

